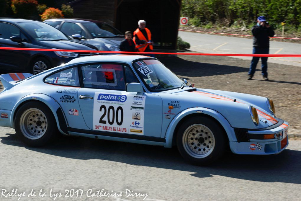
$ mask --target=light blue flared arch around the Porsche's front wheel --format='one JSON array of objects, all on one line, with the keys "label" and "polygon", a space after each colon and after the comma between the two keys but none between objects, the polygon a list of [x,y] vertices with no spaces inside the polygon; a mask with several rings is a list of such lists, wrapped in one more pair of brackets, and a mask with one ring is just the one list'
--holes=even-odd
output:
[{"label": "light blue flared arch around the Porsche's front wheel", "polygon": [[212,110],[212,109],[208,109],[208,108],[204,108],[204,107],[192,107],[192,108],[183,110],[182,112],[177,114],[172,119],[172,121],[169,123],[169,126],[168,126],[168,128],[166,130],[166,134],[165,134],[166,144],[164,144],[164,147],[168,147],[168,148],[172,147],[172,139],[173,139],[173,135],[175,135],[176,126],[178,125],[178,123],[181,122],[181,120],[183,120],[183,118],[185,118],[186,116],[191,115],[191,114],[206,114],[206,115],[213,117],[225,129],[229,141],[230,142],[237,141],[235,133],[234,133],[234,129],[231,127],[230,123],[227,121],[227,119],[224,116],[222,116],[220,113],[218,113],[217,111]]}]

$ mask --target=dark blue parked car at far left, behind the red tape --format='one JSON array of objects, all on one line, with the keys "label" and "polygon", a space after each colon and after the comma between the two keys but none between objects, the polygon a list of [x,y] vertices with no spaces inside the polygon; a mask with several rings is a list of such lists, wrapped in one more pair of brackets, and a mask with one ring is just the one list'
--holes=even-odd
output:
[{"label": "dark blue parked car at far left, behind the red tape", "polygon": [[[0,47],[97,50],[68,38],[54,27],[36,20],[0,18]],[[0,69],[40,73],[83,56],[99,53],[0,50]]]}]

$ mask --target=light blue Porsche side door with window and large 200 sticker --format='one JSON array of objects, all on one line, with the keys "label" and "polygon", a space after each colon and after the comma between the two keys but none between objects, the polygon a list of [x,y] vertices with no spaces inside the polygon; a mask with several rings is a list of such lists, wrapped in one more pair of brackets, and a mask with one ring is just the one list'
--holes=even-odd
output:
[{"label": "light blue Porsche side door with window and large 200 sticker", "polygon": [[84,87],[78,100],[89,129],[160,137],[162,100],[154,94],[125,91],[126,83],[138,82],[128,65],[94,63],[79,68]]}]

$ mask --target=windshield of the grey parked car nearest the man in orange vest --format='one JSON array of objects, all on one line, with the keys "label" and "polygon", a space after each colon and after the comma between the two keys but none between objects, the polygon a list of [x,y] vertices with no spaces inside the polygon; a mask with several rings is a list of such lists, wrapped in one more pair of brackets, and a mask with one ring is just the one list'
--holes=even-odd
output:
[{"label": "windshield of the grey parked car nearest the man in orange vest", "polygon": [[108,24],[82,23],[94,38],[123,37],[122,33]]}]

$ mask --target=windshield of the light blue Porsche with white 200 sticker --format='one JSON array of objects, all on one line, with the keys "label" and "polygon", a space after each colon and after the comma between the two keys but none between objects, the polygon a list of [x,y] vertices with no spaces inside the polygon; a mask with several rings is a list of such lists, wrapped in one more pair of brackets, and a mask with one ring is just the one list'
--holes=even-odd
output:
[{"label": "windshield of the light blue Porsche with white 200 sticker", "polygon": [[134,62],[135,70],[151,91],[164,91],[179,88],[185,82],[155,59]]}]

